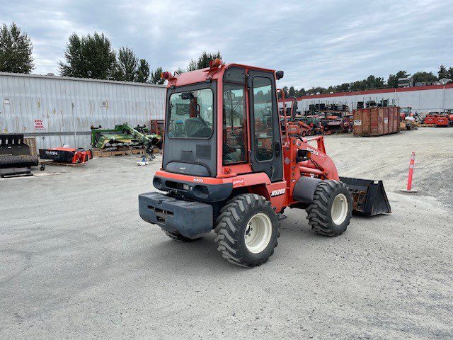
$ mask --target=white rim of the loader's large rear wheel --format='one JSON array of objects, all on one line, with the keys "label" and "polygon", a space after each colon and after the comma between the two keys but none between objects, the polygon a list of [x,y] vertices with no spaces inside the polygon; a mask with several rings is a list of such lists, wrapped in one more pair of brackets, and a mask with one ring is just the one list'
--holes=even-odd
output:
[{"label": "white rim of the loader's large rear wheel", "polygon": [[258,212],[251,217],[243,235],[248,251],[253,254],[263,251],[268,246],[271,236],[272,222],[270,222],[269,216],[263,212]]}]

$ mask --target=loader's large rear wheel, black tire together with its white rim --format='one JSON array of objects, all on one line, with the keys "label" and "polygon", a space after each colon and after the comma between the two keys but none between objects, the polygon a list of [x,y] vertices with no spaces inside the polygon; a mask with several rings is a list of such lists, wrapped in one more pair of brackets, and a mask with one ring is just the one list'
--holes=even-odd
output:
[{"label": "loader's large rear wheel, black tire together with its white rim", "polygon": [[237,266],[260,266],[274,253],[279,227],[277,214],[263,196],[235,196],[217,217],[217,250]]}]

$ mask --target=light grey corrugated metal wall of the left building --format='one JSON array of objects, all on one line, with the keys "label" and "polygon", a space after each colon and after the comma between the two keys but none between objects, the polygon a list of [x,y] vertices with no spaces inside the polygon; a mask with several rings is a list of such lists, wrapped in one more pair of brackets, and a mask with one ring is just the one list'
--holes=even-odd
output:
[{"label": "light grey corrugated metal wall of the left building", "polygon": [[0,100],[1,133],[35,136],[38,148],[88,148],[91,125],[164,119],[165,86],[0,73]]}]

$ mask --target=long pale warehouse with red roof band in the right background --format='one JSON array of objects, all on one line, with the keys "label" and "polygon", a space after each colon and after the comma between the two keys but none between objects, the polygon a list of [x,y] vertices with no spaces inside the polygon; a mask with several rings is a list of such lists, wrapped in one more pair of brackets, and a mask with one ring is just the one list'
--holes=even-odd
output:
[{"label": "long pale warehouse with red roof band in the right background", "polygon": [[447,108],[453,108],[453,84],[302,96],[297,98],[297,110],[301,113],[309,111],[311,105],[319,103],[343,103],[352,110],[357,108],[357,103],[366,103],[367,101],[375,101],[376,103],[388,101],[389,105],[394,104],[402,108],[411,107],[413,112],[418,113],[443,111]]}]

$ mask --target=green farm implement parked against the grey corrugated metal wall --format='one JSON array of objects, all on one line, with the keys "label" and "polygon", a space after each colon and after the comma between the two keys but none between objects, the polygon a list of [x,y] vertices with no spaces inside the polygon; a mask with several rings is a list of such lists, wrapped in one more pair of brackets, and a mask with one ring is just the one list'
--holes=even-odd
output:
[{"label": "green farm implement parked against the grey corrugated metal wall", "polygon": [[91,126],[91,145],[99,149],[117,149],[130,147],[134,149],[144,147],[147,154],[153,154],[153,148],[162,147],[161,135],[151,134],[143,125],[133,128],[128,123],[115,125],[113,129],[102,129]]}]

